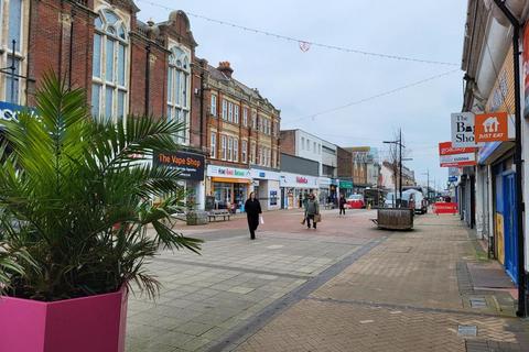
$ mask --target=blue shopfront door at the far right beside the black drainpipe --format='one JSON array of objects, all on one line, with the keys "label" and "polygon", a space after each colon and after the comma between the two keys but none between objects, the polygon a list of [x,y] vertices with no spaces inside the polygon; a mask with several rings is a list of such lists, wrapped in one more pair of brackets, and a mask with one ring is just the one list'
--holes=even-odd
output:
[{"label": "blue shopfront door at the far right beside the black drainpipe", "polygon": [[516,221],[515,173],[504,174],[504,229],[505,268],[510,278],[518,283],[518,237]]}]

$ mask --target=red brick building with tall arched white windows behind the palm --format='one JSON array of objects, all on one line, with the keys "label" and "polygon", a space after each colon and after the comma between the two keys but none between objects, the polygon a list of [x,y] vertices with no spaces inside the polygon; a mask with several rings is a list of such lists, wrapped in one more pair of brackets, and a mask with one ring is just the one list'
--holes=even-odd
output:
[{"label": "red brick building with tall arched white windows behind the palm", "polygon": [[204,61],[195,57],[184,12],[156,24],[139,21],[132,0],[0,0],[0,67],[7,68],[0,74],[0,118],[33,106],[40,81],[53,70],[86,89],[95,116],[185,122],[175,136],[184,145],[180,156],[196,158],[202,170],[184,173],[183,183],[204,206]]}]

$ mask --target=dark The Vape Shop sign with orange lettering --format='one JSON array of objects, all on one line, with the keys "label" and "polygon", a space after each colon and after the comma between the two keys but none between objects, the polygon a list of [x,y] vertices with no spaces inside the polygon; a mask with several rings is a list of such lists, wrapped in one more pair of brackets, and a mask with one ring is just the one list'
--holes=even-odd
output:
[{"label": "dark The Vape Shop sign with orange lettering", "polygon": [[204,155],[190,152],[158,153],[154,155],[154,165],[164,165],[181,172],[185,179],[204,179]]}]

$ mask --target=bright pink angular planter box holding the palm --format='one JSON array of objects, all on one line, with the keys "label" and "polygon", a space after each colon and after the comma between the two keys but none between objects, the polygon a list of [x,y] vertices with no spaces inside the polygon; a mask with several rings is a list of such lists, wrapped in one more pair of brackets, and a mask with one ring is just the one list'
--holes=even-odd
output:
[{"label": "bright pink angular planter box holding the palm", "polygon": [[0,352],[123,352],[127,289],[43,302],[0,297]]}]

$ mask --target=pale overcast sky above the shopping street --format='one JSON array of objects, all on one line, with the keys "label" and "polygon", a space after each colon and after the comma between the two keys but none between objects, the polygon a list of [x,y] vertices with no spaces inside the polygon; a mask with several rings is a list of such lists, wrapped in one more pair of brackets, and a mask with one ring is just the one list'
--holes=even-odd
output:
[{"label": "pale overcast sky above the shopping street", "polygon": [[[155,22],[166,10],[136,1],[139,19]],[[149,0],[216,20],[310,42],[366,52],[449,62],[430,65],[311,46],[210,23],[190,15],[196,54],[216,66],[229,61],[234,77],[258,88],[281,110],[282,129],[300,128],[342,146],[384,148],[402,128],[415,177],[430,169],[445,185],[438,143],[450,140],[450,113],[461,111],[462,72],[346,109],[312,114],[457,69],[466,1],[463,0]]]}]

